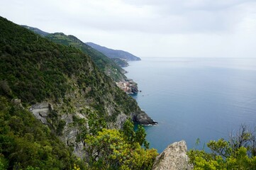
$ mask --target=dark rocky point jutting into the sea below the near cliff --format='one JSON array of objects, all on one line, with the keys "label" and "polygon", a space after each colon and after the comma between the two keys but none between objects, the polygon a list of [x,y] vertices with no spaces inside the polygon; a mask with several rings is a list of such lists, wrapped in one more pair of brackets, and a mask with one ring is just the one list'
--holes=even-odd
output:
[{"label": "dark rocky point jutting into the sea below the near cliff", "polygon": [[157,122],[152,120],[144,111],[132,113],[132,120],[140,125],[157,125]]}]

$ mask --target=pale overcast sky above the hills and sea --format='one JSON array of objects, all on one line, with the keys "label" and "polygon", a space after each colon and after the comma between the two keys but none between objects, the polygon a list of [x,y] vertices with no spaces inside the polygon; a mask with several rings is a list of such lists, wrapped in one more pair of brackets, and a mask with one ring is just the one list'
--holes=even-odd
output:
[{"label": "pale overcast sky above the hills and sea", "polygon": [[0,16],[138,57],[256,57],[256,0],[1,0]]}]

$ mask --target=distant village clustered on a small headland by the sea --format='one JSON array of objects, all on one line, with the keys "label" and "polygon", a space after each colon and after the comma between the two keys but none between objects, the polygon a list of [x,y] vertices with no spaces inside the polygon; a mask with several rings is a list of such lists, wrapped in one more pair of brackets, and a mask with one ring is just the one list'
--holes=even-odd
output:
[{"label": "distant village clustered on a small headland by the sea", "polygon": [[116,82],[116,85],[125,91],[127,94],[137,94],[138,93],[138,86],[133,81],[133,79],[126,79],[126,81],[119,81]]}]

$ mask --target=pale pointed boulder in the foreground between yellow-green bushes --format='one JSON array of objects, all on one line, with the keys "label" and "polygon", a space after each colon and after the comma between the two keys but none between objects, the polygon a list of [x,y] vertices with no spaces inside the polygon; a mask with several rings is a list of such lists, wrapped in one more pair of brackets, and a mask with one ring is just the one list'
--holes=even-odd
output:
[{"label": "pale pointed boulder in the foreground between yellow-green bushes", "polygon": [[155,159],[152,170],[183,170],[193,169],[189,164],[189,157],[187,156],[187,145],[184,140],[174,142],[169,145],[157,158]]}]

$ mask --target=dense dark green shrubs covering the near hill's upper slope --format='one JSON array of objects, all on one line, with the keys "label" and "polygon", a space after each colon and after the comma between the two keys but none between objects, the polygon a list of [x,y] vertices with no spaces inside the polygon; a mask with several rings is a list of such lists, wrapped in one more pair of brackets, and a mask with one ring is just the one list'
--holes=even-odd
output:
[{"label": "dense dark green shrubs covering the near hill's upper slope", "polygon": [[[29,103],[50,97],[57,101],[70,88],[67,77],[89,72],[89,57],[76,49],[56,45],[4,18],[0,22],[0,80],[11,89],[7,95]],[[92,76],[80,74],[85,81]]]}]

